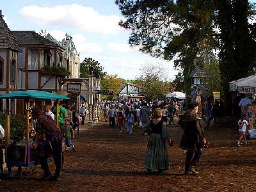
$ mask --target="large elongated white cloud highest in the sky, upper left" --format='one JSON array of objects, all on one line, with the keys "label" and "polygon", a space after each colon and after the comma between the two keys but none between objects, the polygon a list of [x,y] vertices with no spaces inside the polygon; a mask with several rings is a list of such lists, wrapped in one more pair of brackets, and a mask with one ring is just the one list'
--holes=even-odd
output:
[{"label": "large elongated white cloud highest in the sky, upper left", "polygon": [[28,20],[42,26],[63,26],[80,29],[104,35],[115,35],[121,31],[116,15],[100,15],[93,8],[79,4],[58,5],[54,7],[40,7],[36,5],[24,6],[20,14]]}]

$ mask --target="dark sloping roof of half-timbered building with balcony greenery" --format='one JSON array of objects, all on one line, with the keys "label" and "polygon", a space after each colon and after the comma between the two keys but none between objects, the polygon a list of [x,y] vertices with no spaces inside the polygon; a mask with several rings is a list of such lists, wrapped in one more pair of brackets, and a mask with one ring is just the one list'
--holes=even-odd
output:
[{"label": "dark sloping roof of half-timbered building with balcony greenery", "polygon": [[60,47],[60,45],[44,38],[35,31],[12,31],[13,36],[16,38],[19,45],[47,45]]}]

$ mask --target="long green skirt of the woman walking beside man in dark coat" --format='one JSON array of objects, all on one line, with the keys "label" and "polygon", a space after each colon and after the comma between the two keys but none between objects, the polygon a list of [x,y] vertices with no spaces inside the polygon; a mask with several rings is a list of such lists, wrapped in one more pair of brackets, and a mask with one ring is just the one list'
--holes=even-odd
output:
[{"label": "long green skirt of the woman walking beside man in dark coat", "polygon": [[169,170],[169,157],[166,141],[161,134],[150,134],[147,145],[145,168],[149,170]]}]

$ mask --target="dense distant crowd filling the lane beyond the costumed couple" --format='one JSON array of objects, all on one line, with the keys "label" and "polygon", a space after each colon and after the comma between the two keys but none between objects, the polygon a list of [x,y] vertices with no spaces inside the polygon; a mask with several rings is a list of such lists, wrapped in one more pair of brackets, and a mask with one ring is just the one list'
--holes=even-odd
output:
[{"label": "dense distant crowd filling the lane beyond the costumed couple", "polygon": [[121,127],[122,129],[127,127],[127,133],[131,134],[133,127],[142,127],[147,124],[156,108],[162,109],[164,122],[167,122],[169,117],[170,121],[168,124],[174,125],[173,117],[175,115],[178,116],[184,108],[184,100],[155,100],[154,102],[141,100],[121,100],[120,102],[102,100],[100,102],[100,108],[102,109],[104,120],[109,120],[109,127],[118,127],[118,118],[124,116],[124,126],[122,126],[122,121],[120,121]]}]

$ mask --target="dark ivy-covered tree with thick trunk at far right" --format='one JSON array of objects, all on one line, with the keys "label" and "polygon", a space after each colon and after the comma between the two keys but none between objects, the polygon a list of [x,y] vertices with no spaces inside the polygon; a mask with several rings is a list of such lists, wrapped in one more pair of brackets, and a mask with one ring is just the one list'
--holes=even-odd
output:
[{"label": "dark ivy-covered tree with thick trunk at far right", "polygon": [[253,14],[248,0],[216,1],[217,24],[220,28],[220,75],[226,109],[231,109],[229,82],[250,75],[255,67]]}]

